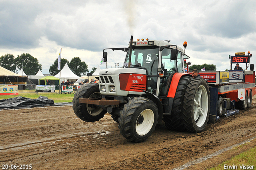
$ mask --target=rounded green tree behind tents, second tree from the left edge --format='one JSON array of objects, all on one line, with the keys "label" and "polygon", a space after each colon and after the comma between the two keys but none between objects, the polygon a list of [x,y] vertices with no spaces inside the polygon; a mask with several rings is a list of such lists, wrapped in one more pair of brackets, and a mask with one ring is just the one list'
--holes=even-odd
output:
[{"label": "rounded green tree behind tents, second tree from the left edge", "polygon": [[[24,59],[22,61],[22,59]],[[14,59],[14,64],[16,64],[18,69],[22,69],[22,63],[23,63],[23,71],[27,75],[36,75],[38,70],[42,70],[42,65],[38,64],[37,58],[34,58],[28,53],[23,53],[21,55],[18,55],[17,58]]]}]

